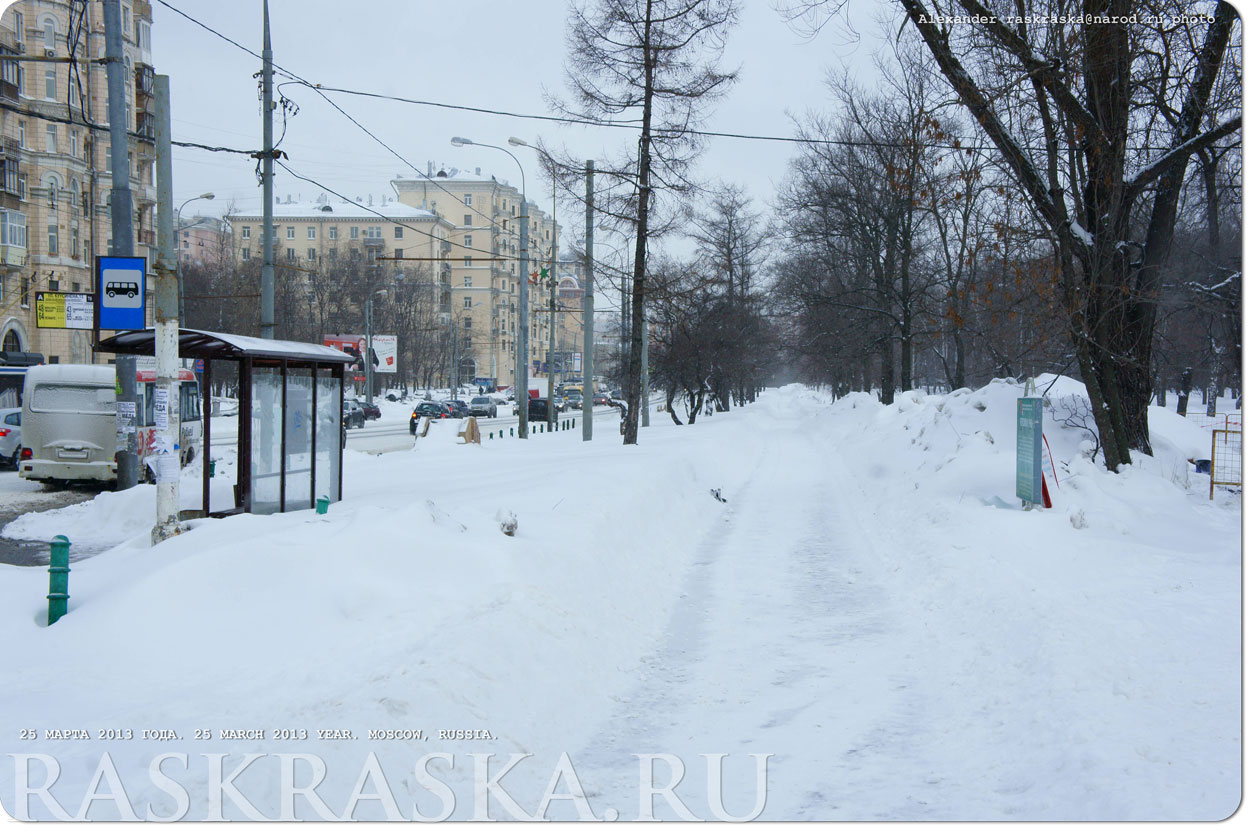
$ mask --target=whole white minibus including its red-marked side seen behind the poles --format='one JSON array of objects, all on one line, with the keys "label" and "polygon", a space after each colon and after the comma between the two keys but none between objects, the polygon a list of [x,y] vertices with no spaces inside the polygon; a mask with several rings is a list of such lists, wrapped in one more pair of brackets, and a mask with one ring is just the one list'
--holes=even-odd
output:
[{"label": "whole white minibus including its red-marked side seen behind the poles", "polygon": [[[190,370],[179,370],[179,453],[186,465],[204,436],[200,389]],[[156,455],[156,374],[136,372],[139,477],[155,482],[148,462]],[[118,478],[116,369],[105,364],[48,364],[30,367],[22,389],[22,458],[28,480]],[[29,427],[28,427],[29,426]]]}]

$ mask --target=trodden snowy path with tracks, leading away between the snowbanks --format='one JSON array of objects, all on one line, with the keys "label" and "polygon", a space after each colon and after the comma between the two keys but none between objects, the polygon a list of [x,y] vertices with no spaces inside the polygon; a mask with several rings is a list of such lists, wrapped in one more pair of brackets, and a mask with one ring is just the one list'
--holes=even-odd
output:
[{"label": "trodden snowy path with tracks, leading away between the snowbanks", "polygon": [[[644,661],[638,688],[599,740],[575,755],[600,812],[608,806],[635,817],[635,753],[681,758],[686,780],[675,793],[701,818],[719,808],[706,802],[701,753],[729,755],[729,815],[752,807],[752,753],[775,755],[769,806],[778,816],[829,818],[852,781],[858,797],[889,793],[856,772],[865,755],[909,731],[911,680],[898,612],[849,511],[845,473],[830,466],[834,448],[805,435],[801,420],[778,416],[750,485],[728,495],[724,525],[696,555],[666,642]],[[668,763],[654,766],[662,786]],[[865,806],[852,803],[855,813]],[[896,810],[886,817],[919,813],[882,808]],[[662,797],[655,813],[681,817]],[[772,815],[766,808],[762,817]]]}]

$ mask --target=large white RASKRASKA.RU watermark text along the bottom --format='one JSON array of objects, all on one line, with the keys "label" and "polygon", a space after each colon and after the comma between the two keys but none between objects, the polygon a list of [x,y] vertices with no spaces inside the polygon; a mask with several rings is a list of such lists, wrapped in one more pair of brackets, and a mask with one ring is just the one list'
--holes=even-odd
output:
[{"label": "large white RASKRASKA.RU watermark text along the bottom", "polygon": [[[502,783],[514,768],[541,766],[535,755],[529,753],[512,753],[506,761],[494,753],[462,755],[471,762],[462,762],[460,768],[471,768],[471,776],[465,771],[465,776],[456,781],[448,777],[458,768],[456,755],[428,753],[398,770],[384,767],[370,751],[360,758],[359,766],[335,772],[349,775],[355,786],[346,798],[334,806],[318,792],[330,770],[325,760],[311,753],[165,752],[151,757],[146,771],[130,776],[130,782],[126,782],[109,752],[102,752],[89,783],[78,790],[68,788],[66,783],[58,787],[61,766],[52,755],[8,756],[14,765],[12,791],[0,783],[0,803],[19,821],[165,822],[350,821],[359,812],[388,821],[446,821],[452,816],[470,821],[538,821],[546,820],[552,807],[569,807],[580,821],[654,821],[658,810],[661,815],[685,821],[754,821],[764,812],[768,800],[768,761],[772,757],[771,753],[739,755],[751,760],[736,761],[734,770],[742,775],[742,770],[754,768],[754,776],[735,778],[731,786],[726,786],[728,753],[699,755],[700,760],[691,766],[692,776],[689,778],[685,762],[676,755],[631,755],[638,761],[636,801],[630,801],[631,806],[595,807],[568,753],[561,753],[550,770],[541,768],[539,773],[550,771],[550,777],[542,795],[531,806],[522,806]],[[81,762],[81,758],[75,758],[74,767],[85,771]],[[341,758],[335,762],[348,768]],[[244,780],[250,786],[245,786]],[[754,780],[754,797],[749,797],[748,783],[738,780]],[[400,786],[400,792],[392,788],[392,783]],[[189,788],[198,793],[192,795]],[[456,788],[461,793],[458,795]],[[258,793],[249,798],[250,790]],[[156,792],[161,793],[159,798]],[[136,803],[131,793],[155,800]],[[750,800],[750,810],[731,815],[725,808],[726,793],[736,806],[745,806]],[[275,808],[265,813],[256,807],[256,802],[275,806]],[[706,806],[709,817],[698,817],[688,803]],[[458,806],[461,807],[459,813]],[[668,811],[662,808],[665,806]]]}]

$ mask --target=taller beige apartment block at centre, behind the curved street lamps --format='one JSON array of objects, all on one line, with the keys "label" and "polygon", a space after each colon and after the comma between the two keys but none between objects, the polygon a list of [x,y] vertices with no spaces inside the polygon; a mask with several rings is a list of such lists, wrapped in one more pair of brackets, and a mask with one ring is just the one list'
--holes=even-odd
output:
[{"label": "taller beige apartment block at centre, behind the curved street lamps", "polygon": [[[520,301],[521,191],[506,180],[472,171],[429,166],[429,175],[391,181],[401,202],[438,214],[451,225],[451,310],[462,334],[462,351],[472,356],[475,377],[511,385],[516,366],[518,304]],[[532,201],[528,205],[529,265],[532,276],[549,269],[559,251],[560,226]],[[546,375],[549,332],[555,327],[556,364],[562,375],[574,375],[568,360],[581,339],[581,307],[568,309],[565,292],[576,282],[571,271],[556,264],[556,312],[550,312],[550,286],[532,279],[529,292],[530,375]],[[576,287],[574,287],[576,289]],[[552,321],[554,319],[554,321]],[[580,351],[580,347],[576,347]],[[465,376],[462,369],[461,376]]]}]

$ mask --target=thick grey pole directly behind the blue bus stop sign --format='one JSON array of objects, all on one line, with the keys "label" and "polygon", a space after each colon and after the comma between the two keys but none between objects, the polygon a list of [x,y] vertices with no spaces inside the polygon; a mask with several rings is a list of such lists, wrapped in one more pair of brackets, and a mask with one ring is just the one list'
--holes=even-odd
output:
[{"label": "thick grey pole directly behind the blue bus stop sign", "polygon": [[[109,159],[112,162],[112,190],[110,191],[112,220],[112,245],[109,254],[114,257],[130,257],[135,252],[134,211],[130,200],[130,142],[126,127],[130,114],[126,111],[126,66],[121,54],[121,4],[120,0],[104,0],[104,54],[106,59],[105,75],[109,82]],[[129,82],[134,82],[129,80]],[[135,357],[119,355],[118,395],[119,402],[131,402],[139,406],[135,391]],[[118,488],[132,488],[139,483],[139,442],[135,426],[126,432],[126,447],[118,451]]]}]

